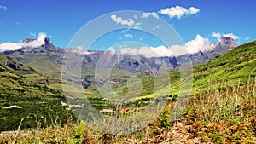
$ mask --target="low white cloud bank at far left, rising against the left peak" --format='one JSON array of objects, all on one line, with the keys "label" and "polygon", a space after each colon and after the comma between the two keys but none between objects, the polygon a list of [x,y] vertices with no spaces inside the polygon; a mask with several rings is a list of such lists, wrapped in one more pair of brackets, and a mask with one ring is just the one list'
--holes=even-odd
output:
[{"label": "low white cloud bank at far left, rising against the left peak", "polygon": [[38,38],[32,42],[29,43],[1,43],[0,49],[1,50],[16,50],[20,49],[22,47],[38,47],[41,45],[44,45],[44,39],[46,37],[46,34],[44,32],[41,32],[38,34]]}]

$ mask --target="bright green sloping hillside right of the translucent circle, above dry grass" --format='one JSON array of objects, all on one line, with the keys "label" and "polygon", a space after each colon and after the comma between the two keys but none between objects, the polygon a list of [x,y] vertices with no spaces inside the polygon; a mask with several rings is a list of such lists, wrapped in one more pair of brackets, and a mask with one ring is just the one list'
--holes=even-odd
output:
[{"label": "bright green sloping hillside right of the translucent circle, above dry grass", "polygon": [[247,84],[256,76],[256,42],[246,43],[216,60],[195,66],[193,71],[194,90],[207,89],[209,84],[217,84],[218,88]]}]

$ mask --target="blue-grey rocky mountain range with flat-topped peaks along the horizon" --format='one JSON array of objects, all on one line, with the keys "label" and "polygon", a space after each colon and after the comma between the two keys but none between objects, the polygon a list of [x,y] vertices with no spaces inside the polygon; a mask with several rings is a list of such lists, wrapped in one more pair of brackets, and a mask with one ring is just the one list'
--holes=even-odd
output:
[{"label": "blue-grey rocky mountain range with flat-topped peaks along the horizon", "polygon": [[[30,43],[35,39],[26,38],[22,42]],[[222,37],[218,43],[212,43],[213,49],[209,51],[199,52],[195,54],[175,56],[161,56],[161,57],[145,57],[144,55],[138,55],[133,57],[132,55],[120,55],[118,53],[111,54],[110,52],[86,50],[86,49],[61,49],[55,47],[54,44],[50,43],[49,38],[45,38],[44,45],[36,48],[25,47],[13,51],[5,51],[3,54],[9,55],[15,60],[20,61],[26,66],[32,66],[38,72],[44,76],[52,78],[61,78],[61,65],[63,62],[63,56],[66,53],[73,53],[76,57],[83,59],[82,69],[95,69],[97,62],[104,54],[108,57],[108,63],[115,63],[114,68],[125,70],[132,73],[144,72],[150,70],[157,72],[161,66],[166,66],[169,71],[178,69],[178,61],[192,61],[192,65],[198,65],[209,60],[214,60],[220,55],[224,55],[231,49],[234,49],[237,44],[230,37]],[[85,54],[85,55],[84,55]],[[118,61],[118,62],[117,62]],[[90,67],[90,68],[88,68]],[[67,66],[67,69],[71,68]],[[91,73],[84,71],[84,73]],[[86,75],[86,74],[85,74]]]}]

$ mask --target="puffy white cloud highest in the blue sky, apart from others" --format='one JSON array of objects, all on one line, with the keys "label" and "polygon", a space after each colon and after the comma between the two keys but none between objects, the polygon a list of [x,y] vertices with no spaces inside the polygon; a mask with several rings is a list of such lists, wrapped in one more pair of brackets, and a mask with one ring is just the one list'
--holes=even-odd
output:
[{"label": "puffy white cloud highest in the blue sky, apart from others", "polygon": [[191,14],[197,14],[200,12],[200,9],[197,9],[195,7],[190,7],[189,9],[183,8],[181,6],[161,9],[160,14],[166,14],[170,18],[177,17],[177,19],[183,18],[184,15],[191,15]]}]

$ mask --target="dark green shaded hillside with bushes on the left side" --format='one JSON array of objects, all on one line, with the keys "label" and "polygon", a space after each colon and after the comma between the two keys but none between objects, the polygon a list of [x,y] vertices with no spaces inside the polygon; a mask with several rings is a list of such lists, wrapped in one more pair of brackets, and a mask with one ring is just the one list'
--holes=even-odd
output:
[{"label": "dark green shaded hillside with bushes on the left side", "polygon": [[[50,89],[44,84],[46,78],[31,67],[3,54],[0,57],[0,131],[17,129],[21,118],[25,118],[22,128],[38,124],[45,127],[55,120],[65,124],[72,112],[61,107],[61,101],[65,101],[61,90]],[[7,61],[20,68],[14,70],[6,66]]]}]

